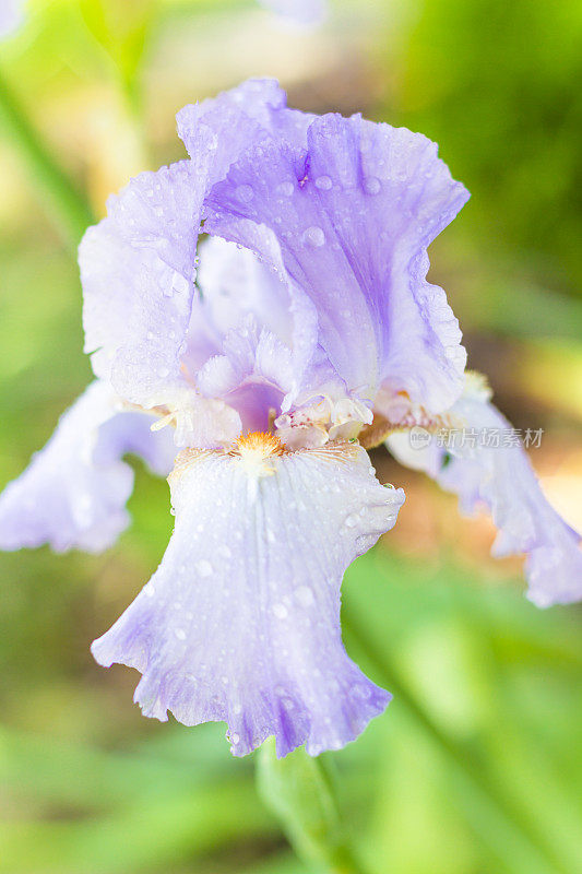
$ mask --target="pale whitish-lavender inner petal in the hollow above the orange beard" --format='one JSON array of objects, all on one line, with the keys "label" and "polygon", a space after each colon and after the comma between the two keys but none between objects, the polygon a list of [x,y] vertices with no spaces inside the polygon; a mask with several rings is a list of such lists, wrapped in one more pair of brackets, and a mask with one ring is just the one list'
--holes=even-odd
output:
[{"label": "pale whitish-lavender inner petal in the hollow above the orange beard", "polygon": [[[199,370],[195,382],[202,393],[233,404],[250,430],[268,427],[270,408],[278,413],[295,401],[311,373],[318,342],[316,309],[276,261],[276,239],[268,228],[254,226],[254,232],[274,267],[217,237],[202,247],[202,303],[192,312],[185,357],[189,369],[192,362],[192,371]],[[201,367],[202,338],[212,332],[224,338],[219,354]],[[249,402],[251,418],[245,414]]]}]

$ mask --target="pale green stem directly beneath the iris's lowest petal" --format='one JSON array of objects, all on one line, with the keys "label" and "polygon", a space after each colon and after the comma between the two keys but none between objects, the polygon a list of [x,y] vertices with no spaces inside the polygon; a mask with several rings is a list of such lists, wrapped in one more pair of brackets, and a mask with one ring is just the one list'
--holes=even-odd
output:
[{"label": "pale green stem directly beneath the iris's lowest petal", "polygon": [[277,759],[269,739],[258,755],[257,786],[309,871],[364,874],[346,841],[333,782],[321,758],[300,748]]}]

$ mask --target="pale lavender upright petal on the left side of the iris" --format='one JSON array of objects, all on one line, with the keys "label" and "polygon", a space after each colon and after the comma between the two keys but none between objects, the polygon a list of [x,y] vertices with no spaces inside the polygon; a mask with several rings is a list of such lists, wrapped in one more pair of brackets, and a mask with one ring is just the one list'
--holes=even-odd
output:
[{"label": "pale lavender upright petal on the left side of the iris", "polygon": [[138,176],[79,249],[85,352],[95,374],[143,406],[185,385],[204,175],[187,161]]}]

